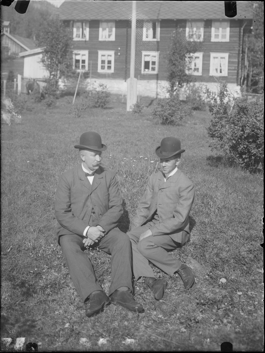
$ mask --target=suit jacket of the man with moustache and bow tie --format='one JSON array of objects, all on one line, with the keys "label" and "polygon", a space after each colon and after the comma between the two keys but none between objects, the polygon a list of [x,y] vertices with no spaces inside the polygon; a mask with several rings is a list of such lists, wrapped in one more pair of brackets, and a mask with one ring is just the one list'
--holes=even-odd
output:
[{"label": "suit jacket of the man with moustache and bow tie", "polygon": [[61,175],[55,196],[58,239],[63,234],[83,235],[88,225],[100,225],[108,233],[118,225],[122,213],[118,181],[111,170],[100,166],[92,185],[82,163]]}]

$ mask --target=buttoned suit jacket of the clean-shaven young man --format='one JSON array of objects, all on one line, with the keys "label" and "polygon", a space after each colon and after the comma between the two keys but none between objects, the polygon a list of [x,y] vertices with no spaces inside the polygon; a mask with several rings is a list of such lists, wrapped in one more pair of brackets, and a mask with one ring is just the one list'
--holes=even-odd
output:
[{"label": "buttoned suit jacket of the clean-shaven young man", "polygon": [[152,174],[141,199],[132,228],[151,225],[154,236],[169,234],[178,243],[189,241],[189,212],[194,201],[195,188],[181,171],[164,181],[162,172]]}]

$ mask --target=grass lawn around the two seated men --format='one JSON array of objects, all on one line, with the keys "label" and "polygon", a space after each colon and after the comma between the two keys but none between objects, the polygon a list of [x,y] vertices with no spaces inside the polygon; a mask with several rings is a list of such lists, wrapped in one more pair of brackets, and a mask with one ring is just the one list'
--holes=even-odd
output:
[{"label": "grass lawn around the two seated men", "polygon": [[[20,123],[1,124],[1,337],[26,337],[39,351],[220,351],[225,341],[234,351],[262,351],[263,175],[213,155],[207,112],[193,113],[181,126],[162,126],[150,117],[153,105],[127,113],[126,101],[112,96],[106,109],[74,119],[71,100],[60,98],[53,109],[35,104]],[[134,282],[143,314],[109,305],[87,318],[56,243],[58,180],[80,162],[74,144],[89,130],[108,146],[102,164],[119,181],[124,232],[149,175],[159,170],[161,139],[178,137],[186,149],[180,169],[197,191],[191,242],[173,256],[191,265],[196,282],[185,291],[180,279],[155,268],[169,285],[156,301],[145,284]],[[108,291],[110,256],[86,251]]]}]

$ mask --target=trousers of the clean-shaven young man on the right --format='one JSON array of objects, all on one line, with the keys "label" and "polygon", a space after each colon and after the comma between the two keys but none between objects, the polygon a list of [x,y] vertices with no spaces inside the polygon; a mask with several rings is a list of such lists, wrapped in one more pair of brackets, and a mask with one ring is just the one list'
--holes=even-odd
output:
[{"label": "trousers of the clean-shaven young man on the right", "polygon": [[137,282],[143,282],[141,277],[155,277],[149,261],[170,276],[181,267],[181,262],[168,252],[180,247],[168,234],[156,235],[139,241],[140,235],[151,228],[147,223],[127,233],[132,243],[133,274]]}]

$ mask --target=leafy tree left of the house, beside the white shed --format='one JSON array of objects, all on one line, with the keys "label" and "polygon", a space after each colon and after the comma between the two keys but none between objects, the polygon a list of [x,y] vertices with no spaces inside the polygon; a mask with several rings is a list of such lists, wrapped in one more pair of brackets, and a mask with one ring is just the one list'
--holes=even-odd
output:
[{"label": "leafy tree left of the house, beside the white shed", "polygon": [[43,48],[41,62],[49,73],[46,94],[55,96],[59,79],[72,71],[72,30],[55,15],[42,24],[36,42]]}]

